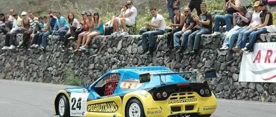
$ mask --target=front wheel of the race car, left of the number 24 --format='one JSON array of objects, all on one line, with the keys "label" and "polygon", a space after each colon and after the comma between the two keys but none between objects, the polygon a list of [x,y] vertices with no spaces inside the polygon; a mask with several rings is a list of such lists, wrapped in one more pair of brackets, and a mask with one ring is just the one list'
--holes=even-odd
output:
[{"label": "front wheel of the race car, left of the number 24", "polygon": [[60,117],[70,117],[70,105],[68,99],[61,95],[58,101],[58,114]]}]

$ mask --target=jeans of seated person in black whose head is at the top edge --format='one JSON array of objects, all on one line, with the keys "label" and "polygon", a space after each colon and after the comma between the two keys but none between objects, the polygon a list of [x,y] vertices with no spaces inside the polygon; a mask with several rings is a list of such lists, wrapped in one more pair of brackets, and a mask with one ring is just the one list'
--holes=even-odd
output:
[{"label": "jeans of seated person in black whose head is at the top edge", "polygon": [[233,24],[233,15],[230,15],[230,14],[226,14],[225,16],[216,15],[215,16],[214,32],[219,32],[220,23],[225,23],[226,31],[230,31],[232,24]]}]

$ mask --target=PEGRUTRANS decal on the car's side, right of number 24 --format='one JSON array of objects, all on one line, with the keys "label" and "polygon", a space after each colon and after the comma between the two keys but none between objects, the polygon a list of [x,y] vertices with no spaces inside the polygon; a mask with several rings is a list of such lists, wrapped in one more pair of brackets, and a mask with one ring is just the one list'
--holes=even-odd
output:
[{"label": "PEGRUTRANS decal on the car's side, right of number 24", "polygon": [[118,105],[114,101],[90,104],[87,106],[87,112],[114,113],[117,110]]}]

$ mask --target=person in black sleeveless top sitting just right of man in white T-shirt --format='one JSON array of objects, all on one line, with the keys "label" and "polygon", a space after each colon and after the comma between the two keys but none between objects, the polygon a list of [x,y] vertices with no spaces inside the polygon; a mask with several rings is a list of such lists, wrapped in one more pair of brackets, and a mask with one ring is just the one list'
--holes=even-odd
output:
[{"label": "person in black sleeveless top sitting just right of man in white T-shirt", "polygon": [[173,49],[173,34],[175,32],[179,32],[183,28],[185,16],[184,14],[180,13],[180,9],[178,6],[173,7],[173,12],[175,14],[174,16],[174,23],[170,24],[169,27],[174,27],[173,31],[170,32],[167,36],[167,47],[168,49],[165,50],[165,52],[169,52]]}]

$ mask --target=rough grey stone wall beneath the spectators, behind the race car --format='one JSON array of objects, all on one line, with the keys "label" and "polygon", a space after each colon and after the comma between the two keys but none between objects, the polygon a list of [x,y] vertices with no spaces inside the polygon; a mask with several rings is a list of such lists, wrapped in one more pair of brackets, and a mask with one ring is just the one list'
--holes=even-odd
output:
[{"label": "rough grey stone wall beneath the spectators, behind the race car", "polygon": [[[22,35],[17,36],[20,41]],[[276,102],[276,83],[238,82],[242,54],[219,51],[223,36],[203,35],[200,53],[164,53],[166,37],[157,36],[153,55],[139,55],[141,36],[98,36],[89,51],[62,52],[59,37],[49,36],[46,52],[38,49],[0,50],[0,78],[63,84],[71,68],[82,82],[95,81],[103,73],[122,67],[166,66],[173,71],[214,68],[217,78],[208,79],[217,98]],[[261,35],[258,42],[275,42],[276,34]],[[0,47],[4,36],[0,36]]]}]

